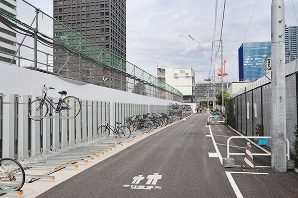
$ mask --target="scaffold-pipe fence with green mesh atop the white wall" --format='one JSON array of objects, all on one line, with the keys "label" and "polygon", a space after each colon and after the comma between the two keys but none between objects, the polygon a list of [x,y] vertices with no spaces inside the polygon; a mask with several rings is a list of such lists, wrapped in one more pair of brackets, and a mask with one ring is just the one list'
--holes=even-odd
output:
[{"label": "scaffold-pipe fence with green mesh atop the white wall", "polygon": [[0,22],[16,32],[16,50],[0,51],[5,57],[11,57],[10,64],[112,89],[183,102],[183,95],[177,89],[96,46],[25,0],[18,1],[17,16],[0,11]]}]

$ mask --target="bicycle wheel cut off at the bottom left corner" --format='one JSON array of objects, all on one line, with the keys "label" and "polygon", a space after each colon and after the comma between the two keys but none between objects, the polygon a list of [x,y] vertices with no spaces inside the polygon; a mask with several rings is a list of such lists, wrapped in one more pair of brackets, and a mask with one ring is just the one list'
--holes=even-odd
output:
[{"label": "bicycle wheel cut off at the bottom left corner", "polygon": [[19,162],[10,158],[0,160],[0,188],[6,191],[20,190],[25,182],[25,172]]}]

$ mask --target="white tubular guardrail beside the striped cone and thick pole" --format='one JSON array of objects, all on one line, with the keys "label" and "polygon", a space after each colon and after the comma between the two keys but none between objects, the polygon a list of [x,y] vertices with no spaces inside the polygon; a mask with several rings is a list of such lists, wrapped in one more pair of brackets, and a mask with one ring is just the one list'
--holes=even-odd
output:
[{"label": "white tubular guardrail beside the striped cone and thick pole", "polygon": [[[226,143],[226,153],[227,153],[227,158],[229,158],[230,155],[245,155],[245,152],[243,153],[235,153],[235,152],[229,152],[229,141],[231,139],[271,139],[270,136],[232,136],[232,137],[229,137],[227,139],[227,143]],[[290,159],[290,143],[289,143],[289,140],[287,140],[287,157],[288,157],[288,160]],[[248,140],[249,141],[249,140]],[[271,153],[252,153],[252,155],[262,155],[262,156],[271,156]]]}]

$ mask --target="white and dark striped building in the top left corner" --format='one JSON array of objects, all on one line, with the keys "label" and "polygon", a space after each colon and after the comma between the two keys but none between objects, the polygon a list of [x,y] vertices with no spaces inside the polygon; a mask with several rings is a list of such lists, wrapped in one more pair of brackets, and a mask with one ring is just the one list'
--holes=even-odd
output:
[{"label": "white and dark striped building in the top left corner", "polygon": [[[1,0],[0,11],[16,18],[16,0]],[[13,55],[17,50],[16,32],[0,22],[0,62],[16,64]],[[11,54],[11,55],[10,55]]]}]

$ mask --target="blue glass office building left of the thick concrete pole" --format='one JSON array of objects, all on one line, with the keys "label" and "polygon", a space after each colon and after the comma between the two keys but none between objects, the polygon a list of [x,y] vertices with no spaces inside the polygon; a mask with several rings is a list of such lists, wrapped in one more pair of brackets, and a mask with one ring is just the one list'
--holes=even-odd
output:
[{"label": "blue glass office building left of the thick concrete pole", "polygon": [[[253,82],[263,77],[263,63],[270,53],[271,42],[243,43],[238,49],[239,80]],[[271,58],[271,54],[268,58]],[[266,72],[266,68],[264,70]]]}]

